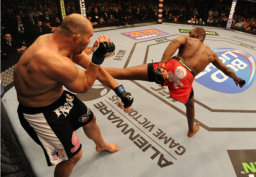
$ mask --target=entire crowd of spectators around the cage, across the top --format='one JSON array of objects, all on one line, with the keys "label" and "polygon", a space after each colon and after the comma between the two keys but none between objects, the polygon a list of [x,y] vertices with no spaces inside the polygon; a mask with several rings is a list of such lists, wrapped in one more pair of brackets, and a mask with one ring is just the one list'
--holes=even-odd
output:
[{"label": "entire crowd of spectators around the cage, across the top", "polygon": [[[22,52],[38,36],[53,33],[60,25],[59,10],[55,0],[11,2],[1,1],[1,53]],[[166,0],[163,2],[162,20],[225,27],[231,3],[216,2]],[[77,13],[77,1],[66,0],[64,3],[66,15]],[[85,3],[86,16],[94,28],[158,20],[156,0],[87,0]],[[231,28],[256,33],[256,6],[248,4],[245,6],[245,4],[237,4]]]}]

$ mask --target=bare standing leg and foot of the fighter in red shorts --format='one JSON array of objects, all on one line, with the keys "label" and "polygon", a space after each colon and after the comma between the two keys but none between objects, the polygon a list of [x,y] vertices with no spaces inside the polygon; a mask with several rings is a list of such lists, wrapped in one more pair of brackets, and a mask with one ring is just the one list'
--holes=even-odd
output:
[{"label": "bare standing leg and foot of the fighter in red shorts", "polygon": [[188,122],[188,137],[192,137],[198,130],[199,124],[194,124],[195,119],[195,106],[194,106],[194,95],[190,98],[186,105],[186,115],[187,115],[187,122]]}]

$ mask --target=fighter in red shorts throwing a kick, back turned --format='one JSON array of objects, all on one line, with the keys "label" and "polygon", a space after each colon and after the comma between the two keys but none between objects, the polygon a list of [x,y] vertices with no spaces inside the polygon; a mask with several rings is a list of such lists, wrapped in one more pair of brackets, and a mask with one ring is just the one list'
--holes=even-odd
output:
[{"label": "fighter in red shorts throwing a kick, back turned", "polygon": [[[194,91],[192,83],[194,77],[212,63],[226,76],[231,77],[236,86],[242,88],[245,80],[224,65],[211,49],[203,43],[205,30],[194,28],[189,35],[179,36],[172,40],[163,53],[162,60],[131,68],[105,68],[115,79],[144,80],[168,86],[170,97],[186,106],[188,121],[188,137],[192,137],[198,130],[199,124],[194,124]],[[173,56],[179,49],[178,55]],[[186,74],[184,74],[186,73]]]}]

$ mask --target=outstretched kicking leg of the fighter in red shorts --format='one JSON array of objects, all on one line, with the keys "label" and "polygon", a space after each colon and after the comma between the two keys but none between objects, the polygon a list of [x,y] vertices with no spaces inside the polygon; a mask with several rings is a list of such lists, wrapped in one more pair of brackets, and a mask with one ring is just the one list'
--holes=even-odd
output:
[{"label": "outstretched kicking leg of the fighter in red shorts", "polygon": [[104,68],[112,77],[119,80],[148,81],[148,64],[132,66],[130,68]]}]

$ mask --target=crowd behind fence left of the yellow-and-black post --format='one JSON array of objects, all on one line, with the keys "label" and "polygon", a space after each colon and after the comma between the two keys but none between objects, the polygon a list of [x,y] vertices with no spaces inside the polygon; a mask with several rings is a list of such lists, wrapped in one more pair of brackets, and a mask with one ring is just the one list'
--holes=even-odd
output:
[{"label": "crowd behind fence left of the yellow-and-black post", "polygon": [[37,37],[60,26],[57,3],[51,1],[1,1],[0,17],[1,59],[24,52]]}]

